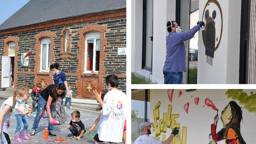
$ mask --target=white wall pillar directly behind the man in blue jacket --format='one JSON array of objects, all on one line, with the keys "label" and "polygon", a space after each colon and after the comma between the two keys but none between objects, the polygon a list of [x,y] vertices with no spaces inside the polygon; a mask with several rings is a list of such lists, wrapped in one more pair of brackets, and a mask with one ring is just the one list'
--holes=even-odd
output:
[{"label": "white wall pillar directly behind the man in blue jacket", "polygon": [[[176,0],[154,0],[153,6],[153,81],[164,83],[163,67],[166,56],[166,22],[175,20]],[[155,79],[154,79],[155,77]]]}]

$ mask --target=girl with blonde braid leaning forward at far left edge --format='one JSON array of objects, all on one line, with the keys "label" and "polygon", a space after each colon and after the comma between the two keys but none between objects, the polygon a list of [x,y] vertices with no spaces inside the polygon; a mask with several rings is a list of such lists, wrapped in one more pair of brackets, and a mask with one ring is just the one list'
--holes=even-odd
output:
[{"label": "girl with blonde braid leaning forward at far left edge", "polygon": [[6,99],[0,107],[0,138],[1,144],[11,144],[11,140],[8,134],[8,128],[10,126],[10,117],[14,110],[15,103],[23,103],[29,99],[29,92],[25,88],[19,88],[14,92],[12,97]]}]

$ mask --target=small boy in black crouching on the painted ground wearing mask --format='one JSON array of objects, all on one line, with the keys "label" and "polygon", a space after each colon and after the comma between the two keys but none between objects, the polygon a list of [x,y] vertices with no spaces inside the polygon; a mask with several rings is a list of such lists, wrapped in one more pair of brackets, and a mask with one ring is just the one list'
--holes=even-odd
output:
[{"label": "small boy in black crouching on the painted ground wearing mask", "polygon": [[76,138],[77,140],[82,140],[82,135],[86,132],[85,131],[85,125],[83,125],[80,118],[80,112],[78,110],[75,110],[71,113],[71,121],[69,123],[68,129],[73,134],[73,137],[70,137],[71,139]]}]

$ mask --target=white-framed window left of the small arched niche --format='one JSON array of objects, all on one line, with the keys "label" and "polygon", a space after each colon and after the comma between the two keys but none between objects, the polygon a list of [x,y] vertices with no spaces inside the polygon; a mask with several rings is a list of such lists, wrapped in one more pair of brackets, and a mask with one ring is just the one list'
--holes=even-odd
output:
[{"label": "white-framed window left of the small arched niche", "polygon": [[41,71],[46,71],[50,67],[50,37],[41,40]]}]

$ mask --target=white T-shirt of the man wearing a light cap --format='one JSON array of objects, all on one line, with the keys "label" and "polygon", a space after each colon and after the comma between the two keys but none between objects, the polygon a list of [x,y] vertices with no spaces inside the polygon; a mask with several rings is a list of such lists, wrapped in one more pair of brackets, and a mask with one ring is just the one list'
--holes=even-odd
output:
[{"label": "white T-shirt of the man wearing a light cap", "polygon": [[149,137],[149,135],[141,135],[139,136],[134,144],[161,144],[162,141],[158,140],[154,137]]}]

